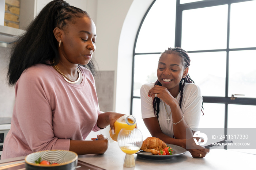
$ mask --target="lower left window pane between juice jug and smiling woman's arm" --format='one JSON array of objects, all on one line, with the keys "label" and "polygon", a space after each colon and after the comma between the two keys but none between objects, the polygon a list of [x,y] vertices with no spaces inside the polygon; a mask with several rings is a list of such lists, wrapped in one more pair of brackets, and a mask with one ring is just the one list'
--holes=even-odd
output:
[{"label": "lower left window pane between juice jug and smiling woman's arm", "polygon": [[142,119],[140,98],[133,98],[132,102],[132,115],[136,117],[137,128],[142,132],[143,140],[145,140],[147,137],[150,137],[151,134]]}]

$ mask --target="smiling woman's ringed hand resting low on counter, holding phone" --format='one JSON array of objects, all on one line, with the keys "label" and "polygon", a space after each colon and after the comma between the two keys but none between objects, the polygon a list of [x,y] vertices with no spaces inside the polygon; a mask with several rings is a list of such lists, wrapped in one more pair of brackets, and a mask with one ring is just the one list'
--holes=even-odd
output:
[{"label": "smiling woman's ringed hand resting low on counter, holding phone", "polygon": [[[197,141],[199,138],[196,138]],[[204,148],[202,146],[196,145],[193,138],[186,139],[186,148],[191,153],[194,158],[204,158],[206,154],[210,152],[210,149]]]}]

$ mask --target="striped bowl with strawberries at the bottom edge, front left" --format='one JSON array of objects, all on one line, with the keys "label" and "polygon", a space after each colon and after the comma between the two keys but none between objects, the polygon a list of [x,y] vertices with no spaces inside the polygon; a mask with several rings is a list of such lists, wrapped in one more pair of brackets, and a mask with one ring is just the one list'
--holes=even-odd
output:
[{"label": "striped bowl with strawberries at the bottom edge, front left", "polygon": [[78,155],[66,150],[45,150],[29,154],[25,158],[26,170],[74,170]]}]

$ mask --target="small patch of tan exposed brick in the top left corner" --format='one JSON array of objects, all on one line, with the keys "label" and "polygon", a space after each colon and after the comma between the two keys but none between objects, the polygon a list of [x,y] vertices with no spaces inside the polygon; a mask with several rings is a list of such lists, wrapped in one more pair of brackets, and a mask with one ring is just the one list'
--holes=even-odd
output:
[{"label": "small patch of tan exposed brick in the top left corner", "polygon": [[4,25],[19,28],[20,0],[5,0]]}]

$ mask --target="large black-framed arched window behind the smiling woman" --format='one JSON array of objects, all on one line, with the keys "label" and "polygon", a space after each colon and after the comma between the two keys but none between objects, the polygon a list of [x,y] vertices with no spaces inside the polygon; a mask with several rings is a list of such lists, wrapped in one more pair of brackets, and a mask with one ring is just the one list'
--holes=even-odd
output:
[{"label": "large black-framed arched window behind the smiling woman", "polygon": [[199,127],[256,128],[255,8],[255,0],[155,0],[135,40],[131,114],[140,116],[140,87],[157,80],[161,52],[181,47],[203,94]]}]

